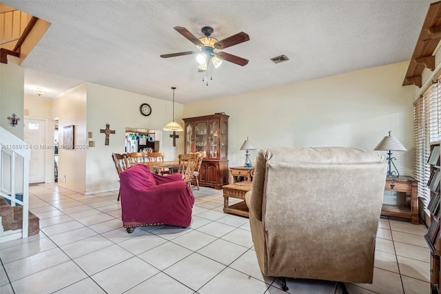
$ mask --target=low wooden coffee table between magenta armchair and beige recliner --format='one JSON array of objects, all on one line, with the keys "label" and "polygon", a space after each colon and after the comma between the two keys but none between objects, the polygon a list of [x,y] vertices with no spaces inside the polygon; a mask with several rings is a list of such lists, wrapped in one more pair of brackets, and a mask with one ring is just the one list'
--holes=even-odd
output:
[{"label": "low wooden coffee table between magenta armchair and beige recliner", "polygon": [[[232,213],[234,215],[241,215],[248,217],[248,206],[245,203],[245,194],[251,190],[252,182],[237,182],[234,184],[225,185],[223,188],[223,212]],[[243,199],[242,202],[228,205],[228,198]]]}]

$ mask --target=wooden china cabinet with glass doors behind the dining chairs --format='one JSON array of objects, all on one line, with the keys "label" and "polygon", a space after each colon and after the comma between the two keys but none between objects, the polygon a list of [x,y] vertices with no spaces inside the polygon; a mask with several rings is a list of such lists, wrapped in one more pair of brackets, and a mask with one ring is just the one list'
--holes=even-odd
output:
[{"label": "wooden china cabinet with glass doors behind the dining chairs", "polygon": [[199,186],[221,189],[228,184],[228,115],[183,119],[184,153],[203,153]]}]

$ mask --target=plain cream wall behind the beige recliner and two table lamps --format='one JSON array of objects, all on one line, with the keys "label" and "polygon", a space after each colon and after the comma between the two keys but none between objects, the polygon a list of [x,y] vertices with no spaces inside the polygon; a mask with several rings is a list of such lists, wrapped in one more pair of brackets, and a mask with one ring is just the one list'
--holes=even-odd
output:
[{"label": "plain cream wall behind the beige recliner and two table lamps", "polygon": [[[369,68],[278,88],[185,104],[184,117],[229,115],[229,166],[241,166],[249,137],[272,146],[351,146],[373,150],[392,131],[402,175],[413,175],[413,87],[403,87],[408,62]],[[250,151],[252,161],[257,150]],[[386,157],[386,153],[382,152]]]}]

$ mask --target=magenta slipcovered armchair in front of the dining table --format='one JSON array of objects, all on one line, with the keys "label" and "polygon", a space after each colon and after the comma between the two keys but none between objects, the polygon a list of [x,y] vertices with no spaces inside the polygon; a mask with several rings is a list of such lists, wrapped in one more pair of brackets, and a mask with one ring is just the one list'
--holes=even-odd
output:
[{"label": "magenta slipcovered armchair in front of the dining table", "polygon": [[123,226],[127,233],[137,226],[187,227],[192,222],[194,197],[180,173],[155,175],[148,166],[137,164],[119,177]]}]

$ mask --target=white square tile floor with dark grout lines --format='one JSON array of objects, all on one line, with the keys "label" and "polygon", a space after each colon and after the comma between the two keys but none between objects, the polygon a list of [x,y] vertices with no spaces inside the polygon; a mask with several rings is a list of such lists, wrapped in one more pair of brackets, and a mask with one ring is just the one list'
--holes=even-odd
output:
[{"label": "white square tile floor with dark grout lines", "polygon": [[[260,272],[247,218],[222,212],[222,190],[194,189],[191,228],[128,234],[116,193],[30,187],[39,235],[0,244],[0,293],[285,293]],[[429,293],[427,228],[380,219],[373,284],[349,293]],[[336,283],[288,281],[289,293],[342,293]]]}]

